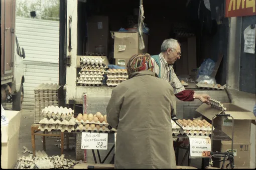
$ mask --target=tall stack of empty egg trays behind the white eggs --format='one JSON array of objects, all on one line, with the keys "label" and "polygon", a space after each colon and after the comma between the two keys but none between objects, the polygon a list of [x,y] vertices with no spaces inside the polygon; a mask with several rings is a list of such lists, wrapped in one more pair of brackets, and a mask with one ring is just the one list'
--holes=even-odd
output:
[{"label": "tall stack of empty egg trays behind the white eggs", "polygon": [[64,104],[63,86],[53,83],[42,83],[34,89],[35,115],[34,123],[39,123],[43,118],[42,109],[49,105],[60,106]]}]

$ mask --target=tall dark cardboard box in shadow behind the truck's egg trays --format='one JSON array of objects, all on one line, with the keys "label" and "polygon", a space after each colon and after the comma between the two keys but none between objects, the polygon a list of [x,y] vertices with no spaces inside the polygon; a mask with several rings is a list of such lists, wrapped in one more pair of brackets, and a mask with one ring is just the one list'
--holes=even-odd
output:
[{"label": "tall dark cardboard box in shadow behind the truck's egg trays", "polygon": [[88,18],[88,52],[96,52],[95,46],[104,45],[108,49],[109,24],[108,16],[91,16]]}]

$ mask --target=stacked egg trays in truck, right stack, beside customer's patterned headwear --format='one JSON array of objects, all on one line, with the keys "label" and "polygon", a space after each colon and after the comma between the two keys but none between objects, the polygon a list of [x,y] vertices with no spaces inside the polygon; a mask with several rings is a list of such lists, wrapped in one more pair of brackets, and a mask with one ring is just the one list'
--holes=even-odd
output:
[{"label": "stacked egg trays in truck, right stack, beside customer's patterned headwear", "polygon": [[111,69],[106,71],[107,74],[107,85],[116,86],[122,81],[128,78],[128,73],[126,69]]}]

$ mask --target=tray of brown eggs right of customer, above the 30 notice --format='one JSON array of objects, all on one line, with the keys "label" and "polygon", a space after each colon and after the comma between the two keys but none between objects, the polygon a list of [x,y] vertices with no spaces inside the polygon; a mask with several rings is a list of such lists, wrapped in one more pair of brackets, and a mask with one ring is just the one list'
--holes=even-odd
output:
[{"label": "tray of brown eggs right of customer, above the 30 notice", "polygon": [[[180,122],[176,121],[182,128],[183,128],[183,132],[180,131],[181,134],[185,134],[185,135],[201,135],[201,136],[209,136],[211,134],[211,127],[210,126],[202,126],[200,127],[199,125],[194,126],[192,125],[191,127],[189,125],[184,126],[183,124],[181,124]],[[213,127],[214,130],[214,127]]]}]

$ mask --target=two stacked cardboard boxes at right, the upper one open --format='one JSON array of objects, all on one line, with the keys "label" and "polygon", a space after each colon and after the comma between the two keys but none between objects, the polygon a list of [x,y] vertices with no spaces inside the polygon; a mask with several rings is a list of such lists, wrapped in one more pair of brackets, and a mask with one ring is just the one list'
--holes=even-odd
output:
[{"label": "two stacked cardboard boxes at right, the upper one open", "polygon": [[[233,153],[235,167],[249,168],[250,166],[250,131],[251,122],[255,123],[255,116],[252,112],[238,107],[232,103],[223,103],[226,107],[225,114],[230,114],[234,118],[234,137],[233,137]],[[209,120],[215,114],[219,114],[222,111],[211,107],[207,104],[202,104],[196,109],[197,112]],[[214,119],[214,127],[217,126],[226,133],[229,137],[232,137],[232,118],[231,117],[216,117]],[[231,151],[231,141],[213,141],[213,151]],[[225,163],[227,164],[227,162]]]}]

